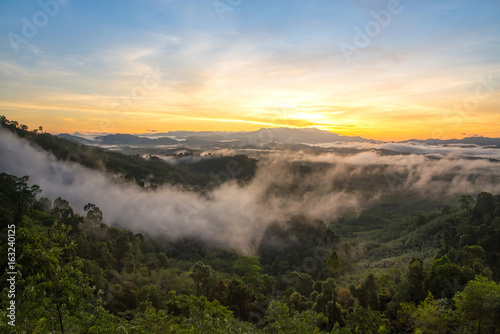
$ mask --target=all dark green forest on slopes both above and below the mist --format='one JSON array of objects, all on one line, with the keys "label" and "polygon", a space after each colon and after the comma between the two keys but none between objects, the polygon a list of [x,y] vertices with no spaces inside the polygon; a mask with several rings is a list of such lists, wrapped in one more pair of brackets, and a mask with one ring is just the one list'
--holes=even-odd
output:
[{"label": "all dark green forest on slopes both above and below the mist", "polygon": [[[171,184],[210,196],[257,169],[245,155],[172,166],[1,124],[58,160],[104,168],[144,191]],[[228,159],[240,171],[214,176]],[[112,226],[98,203],[72,207],[42,191],[30,175],[0,174],[0,332],[500,333],[498,194],[392,193],[331,221],[296,214],[269,224],[249,255]]]}]

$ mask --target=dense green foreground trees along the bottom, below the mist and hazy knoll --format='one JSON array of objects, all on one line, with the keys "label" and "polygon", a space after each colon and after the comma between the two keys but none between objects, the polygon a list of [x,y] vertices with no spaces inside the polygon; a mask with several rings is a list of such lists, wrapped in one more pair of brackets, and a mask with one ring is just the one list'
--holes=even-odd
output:
[{"label": "dense green foreground trees along the bottom, below the mist and hazy knoll", "polygon": [[[95,205],[86,205],[80,216],[64,199],[52,203],[38,199],[39,192],[28,186],[28,177],[0,174],[0,230],[6,235],[9,225],[16,226],[18,255],[17,327],[2,322],[3,332],[497,333],[500,328],[500,229],[493,223],[500,196],[481,193],[469,209],[426,218],[419,229],[441,222],[434,260],[414,257],[403,271],[379,268],[342,288],[356,261],[321,221],[294,217],[272,225],[258,257],[239,256],[197,240],[152,240],[109,227]],[[2,254],[7,247],[3,238]],[[6,256],[0,261],[7,267]],[[7,278],[1,277],[4,318]]]}]

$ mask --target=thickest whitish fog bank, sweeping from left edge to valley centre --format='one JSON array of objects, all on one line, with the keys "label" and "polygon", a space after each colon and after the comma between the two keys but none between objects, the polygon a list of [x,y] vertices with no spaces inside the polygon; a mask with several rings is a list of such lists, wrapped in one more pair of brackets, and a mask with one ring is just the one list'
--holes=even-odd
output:
[{"label": "thickest whitish fog bank, sweeping from left edge to valley centre", "polygon": [[265,228],[275,220],[313,212],[316,216],[333,218],[359,207],[356,196],[324,191],[318,193],[325,195],[321,199],[313,192],[305,194],[303,199],[276,197],[266,203],[264,192],[284,177],[275,163],[261,168],[249,185],[241,187],[229,182],[212,191],[207,199],[174,187],[146,191],[122,183],[116,176],[56,161],[5,130],[0,130],[0,138],[1,171],[29,175],[30,183],[43,189],[42,196],[52,200],[61,196],[80,212],[85,204],[94,203],[103,211],[106,223],[153,236],[198,236],[250,254]]}]

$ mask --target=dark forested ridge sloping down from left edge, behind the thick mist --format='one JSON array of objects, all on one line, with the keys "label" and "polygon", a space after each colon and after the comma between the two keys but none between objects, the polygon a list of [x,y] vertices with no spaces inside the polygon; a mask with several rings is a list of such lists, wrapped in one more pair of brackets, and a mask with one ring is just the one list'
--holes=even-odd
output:
[{"label": "dark forested ridge sloping down from left edge, behind the thick mist", "polygon": [[233,178],[248,181],[254,176],[256,169],[256,160],[244,155],[217,157],[177,168],[156,156],[145,159],[138,154],[125,155],[96,146],[77,144],[44,133],[42,127],[28,131],[26,125],[9,121],[5,116],[0,116],[0,124],[19,137],[52,153],[58,160],[78,163],[90,169],[104,169],[141,187],[156,188],[163,184],[173,184],[195,191],[205,191]]}]

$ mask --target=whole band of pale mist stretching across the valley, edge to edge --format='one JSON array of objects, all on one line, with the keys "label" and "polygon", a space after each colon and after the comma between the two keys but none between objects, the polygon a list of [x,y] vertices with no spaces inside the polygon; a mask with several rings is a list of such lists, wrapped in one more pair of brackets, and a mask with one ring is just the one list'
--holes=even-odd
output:
[{"label": "whole band of pale mist stretching across the valley, edge to edge", "polygon": [[29,175],[40,196],[61,196],[79,213],[94,203],[104,222],[151,236],[200,237],[254,254],[267,226],[303,214],[325,222],[376,205],[387,192],[447,197],[500,192],[500,164],[456,155],[273,152],[252,181],[226,182],[208,196],[173,186],[146,190],[116,175],[56,161],[0,129],[0,171]]}]

